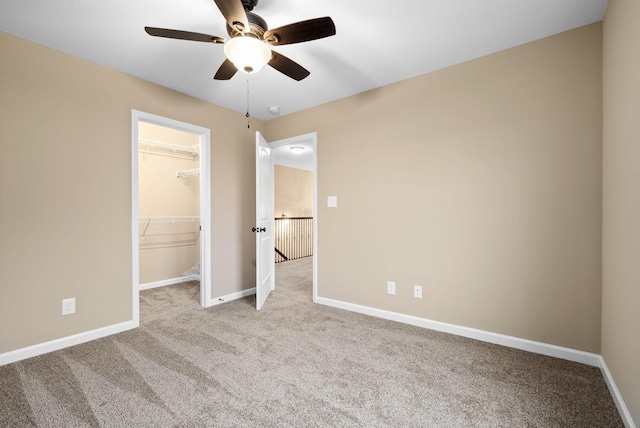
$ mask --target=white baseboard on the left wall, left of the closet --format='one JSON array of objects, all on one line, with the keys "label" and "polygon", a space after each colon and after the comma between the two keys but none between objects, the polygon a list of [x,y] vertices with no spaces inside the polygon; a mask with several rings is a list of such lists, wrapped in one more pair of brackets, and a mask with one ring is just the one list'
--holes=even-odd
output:
[{"label": "white baseboard on the left wall, left of the closet", "polygon": [[120,324],[114,324],[95,330],[85,331],[84,333],[78,333],[72,336],[51,340],[49,342],[28,346],[26,348],[16,349],[15,351],[5,352],[4,354],[0,354],[0,366],[9,363],[15,363],[16,361],[24,360],[31,357],[36,357],[38,355],[46,354],[47,352],[53,352],[63,348],[68,348],[69,346],[90,342],[92,340],[100,339],[105,336],[110,336],[112,334],[131,330],[134,327],[135,326],[133,325],[133,321],[126,321]]}]

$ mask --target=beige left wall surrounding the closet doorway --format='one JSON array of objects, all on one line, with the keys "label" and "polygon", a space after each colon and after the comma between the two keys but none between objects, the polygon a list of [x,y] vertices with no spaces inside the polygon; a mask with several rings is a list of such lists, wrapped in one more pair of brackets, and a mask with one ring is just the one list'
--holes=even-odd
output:
[{"label": "beige left wall surrounding the closet doorway", "polygon": [[132,109],[211,129],[212,295],[255,286],[261,122],[1,32],[0,52],[0,353],[132,319]]}]

